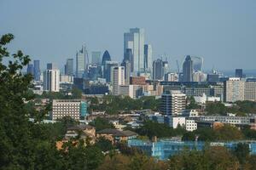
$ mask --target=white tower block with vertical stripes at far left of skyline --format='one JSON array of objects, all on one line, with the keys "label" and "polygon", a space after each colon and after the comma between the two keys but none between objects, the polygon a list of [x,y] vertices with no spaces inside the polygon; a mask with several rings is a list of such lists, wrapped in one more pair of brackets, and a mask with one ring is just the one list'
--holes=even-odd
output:
[{"label": "white tower block with vertical stripes at far left of skyline", "polygon": [[60,70],[44,71],[44,91],[60,91]]}]

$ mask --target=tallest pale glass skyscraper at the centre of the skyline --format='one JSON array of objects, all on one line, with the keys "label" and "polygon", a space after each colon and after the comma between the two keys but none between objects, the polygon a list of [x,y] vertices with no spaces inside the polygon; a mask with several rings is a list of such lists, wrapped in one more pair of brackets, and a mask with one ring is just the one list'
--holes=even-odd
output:
[{"label": "tallest pale glass skyscraper at the centre of the skyline", "polygon": [[133,57],[131,71],[136,73],[144,70],[144,34],[143,28],[131,28],[124,34],[124,53],[127,48],[131,49]]}]

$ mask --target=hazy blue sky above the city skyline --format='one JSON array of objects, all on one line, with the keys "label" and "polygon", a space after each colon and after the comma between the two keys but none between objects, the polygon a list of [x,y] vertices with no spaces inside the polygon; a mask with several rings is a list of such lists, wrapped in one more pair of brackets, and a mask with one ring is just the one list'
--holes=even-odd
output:
[{"label": "hazy blue sky above the city skyline", "polygon": [[0,0],[0,34],[43,68],[62,69],[84,43],[121,61],[131,27],[145,28],[154,59],[166,54],[172,69],[186,54],[205,69],[256,69],[256,0]]}]

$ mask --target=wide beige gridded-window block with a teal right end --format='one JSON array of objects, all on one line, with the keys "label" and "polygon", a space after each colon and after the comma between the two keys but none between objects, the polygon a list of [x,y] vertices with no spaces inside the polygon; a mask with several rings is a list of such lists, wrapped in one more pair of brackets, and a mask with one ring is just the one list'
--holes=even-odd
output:
[{"label": "wide beige gridded-window block with a teal right end", "polygon": [[87,116],[87,104],[79,99],[54,99],[52,102],[52,120],[70,116],[75,120]]}]

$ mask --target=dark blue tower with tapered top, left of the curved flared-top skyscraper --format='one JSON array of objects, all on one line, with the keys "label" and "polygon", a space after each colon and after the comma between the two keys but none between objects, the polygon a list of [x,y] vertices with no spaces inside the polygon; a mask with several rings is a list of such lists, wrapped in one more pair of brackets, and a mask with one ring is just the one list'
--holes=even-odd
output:
[{"label": "dark blue tower with tapered top, left of the curved flared-top skyscraper", "polygon": [[193,61],[190,55],[183,62],[183,82],[193,82]]}]

